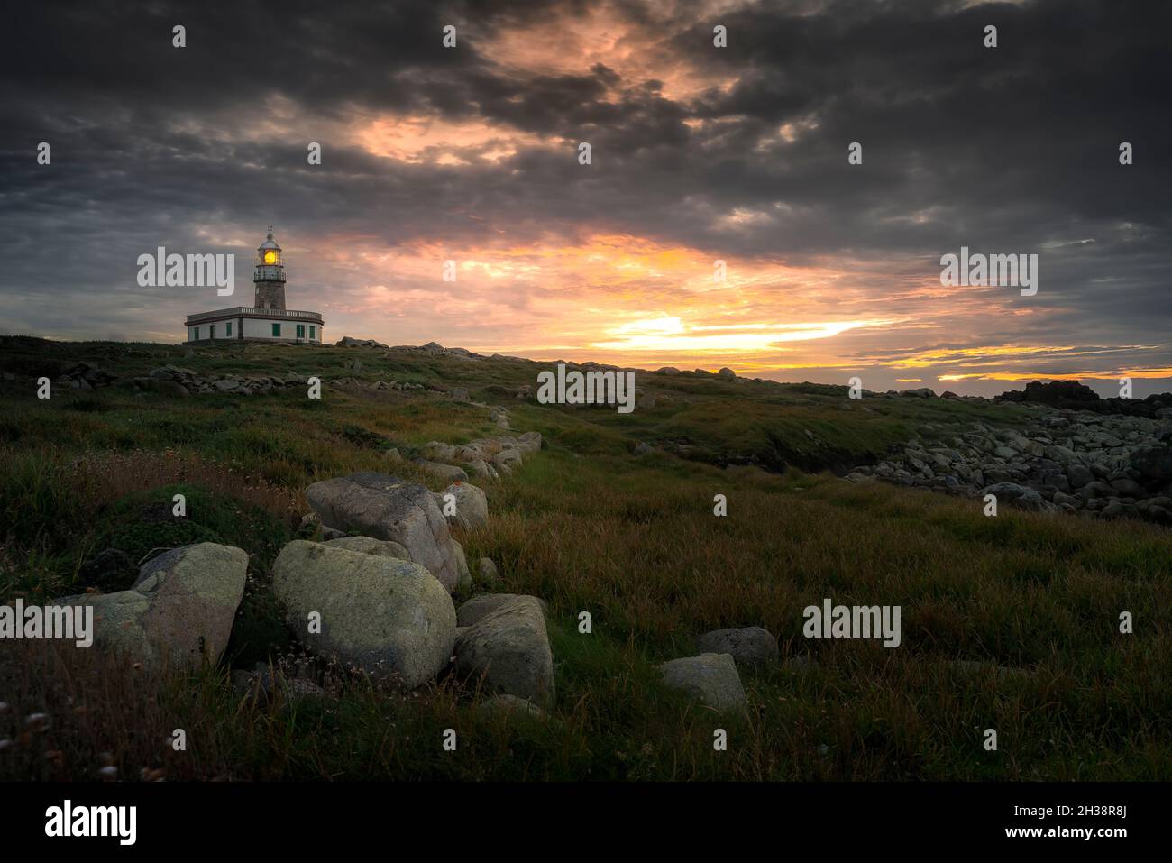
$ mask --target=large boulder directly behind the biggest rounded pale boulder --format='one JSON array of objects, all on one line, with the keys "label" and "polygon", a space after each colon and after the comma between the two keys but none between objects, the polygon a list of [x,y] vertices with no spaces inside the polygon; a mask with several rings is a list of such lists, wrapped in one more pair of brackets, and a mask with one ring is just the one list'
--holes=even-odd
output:
[{"label": "large boulder directly behind the biggest rounded pale boulder", "polygon": [[459,573],[448,522],[423,485],[367,470],[315,482],[305,497],[326,526],[396,542],[455,590]]}]

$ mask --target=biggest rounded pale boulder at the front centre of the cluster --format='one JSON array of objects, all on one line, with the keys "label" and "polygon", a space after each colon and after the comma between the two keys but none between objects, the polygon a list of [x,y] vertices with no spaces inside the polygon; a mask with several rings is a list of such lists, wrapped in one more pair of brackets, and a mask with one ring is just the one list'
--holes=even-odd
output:
[{"label": "biggest rounded pale boulder at the front centre of the cluster", "polygon": [[[423,566],[295,539],[273,564],[273,593],[286,620],[322,657],[414,687],[451,659],[456,609]],[[319,613],[320,632],[309,614]]]}]

